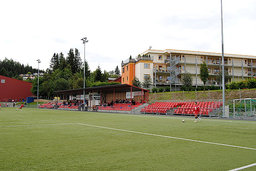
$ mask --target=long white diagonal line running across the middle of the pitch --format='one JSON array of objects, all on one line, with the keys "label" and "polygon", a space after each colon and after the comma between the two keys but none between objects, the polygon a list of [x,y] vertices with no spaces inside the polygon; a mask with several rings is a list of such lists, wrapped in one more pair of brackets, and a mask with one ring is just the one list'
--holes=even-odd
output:
[{"label": "long white diagonal line running across the middle of the pitch", "polygon": [[[82,123],[78,123],[78,124],[80,124],[80,125],[87,125],[87,124],[82,124]],[[174,139],[179,139],[179,140],[187,140],[187,141],[194,141],[194,142],[204,142],[204,141],[189,140],[189,139],[184,139],[184,138],[169,137],[169,136],[164,136],[164,135],[148,134],[148,133],[136,132],[136,131],[128,131],[128,130],[122,130],[122,129],[116,129],[116,128],[107,128],[107,127],[96,126],[96,125],[87,125],[87,126],[94,126],[94,127],[106,128],[106,129],[113,129],[113,130],[117,130],[117,131],[133,132],[133,133],[145,134],[145,135],[154,135],[154,136],[159,136],[159,137],[174,138]],[[225,146],[230,146],[230,147],[238,147],[238,148],[246,148],[246,149],[250,149],[250,150],[256,150],[256,148],[240,147],[240,146],[235,146],[235,145],[219,144],[219,143],[214,143],[214,142],[204,142],[204,143],[216,144],[216,145],[225,145]]]}]

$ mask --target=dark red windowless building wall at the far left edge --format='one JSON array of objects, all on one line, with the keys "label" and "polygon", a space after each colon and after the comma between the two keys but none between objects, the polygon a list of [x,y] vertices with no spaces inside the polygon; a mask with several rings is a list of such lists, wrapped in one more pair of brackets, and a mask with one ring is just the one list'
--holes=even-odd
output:
[{"label": "dark red windowless building wall at the far left edge", "polygon": [[0,75],[0,102],[8,102],[8,99],[17,99],[17,102],[26,97],[31,97],[32,84],[26,81],[16,80]]}]

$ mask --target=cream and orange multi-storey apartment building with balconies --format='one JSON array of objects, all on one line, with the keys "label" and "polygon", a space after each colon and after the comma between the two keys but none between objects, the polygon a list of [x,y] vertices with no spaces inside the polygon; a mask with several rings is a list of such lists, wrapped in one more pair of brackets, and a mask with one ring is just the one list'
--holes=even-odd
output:
[{"label": "cream and orange multi-storey apartment building with balconies", "polygon": [[[221,72],[222,57],[220,53],[183,50],[148,49],[135,58],[122,61],[122,84],[131,84],[134,77],[142,82],[150,75],[152,87],[172,85],[172,90],[181,85],[180,78],[185,71],[192,74],[193,85],[201,82],[200,64],[207,63],[209,79],[207,85],[217,85],[217,75]],[[224,69],[232,75],[232,80],[244,80],[256,76],[256,56],[224,54]],[[178,89],[178,88],[177,88]]]}]

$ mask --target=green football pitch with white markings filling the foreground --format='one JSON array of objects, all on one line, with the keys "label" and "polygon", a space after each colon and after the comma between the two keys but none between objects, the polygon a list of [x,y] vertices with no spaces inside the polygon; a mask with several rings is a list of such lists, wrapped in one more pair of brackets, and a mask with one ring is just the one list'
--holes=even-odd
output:
[{"label": "green football pitch with white markings filling the foreground", "polygon": [[256,121],[193,121],[2,108],[0,170],[256,170]]}]

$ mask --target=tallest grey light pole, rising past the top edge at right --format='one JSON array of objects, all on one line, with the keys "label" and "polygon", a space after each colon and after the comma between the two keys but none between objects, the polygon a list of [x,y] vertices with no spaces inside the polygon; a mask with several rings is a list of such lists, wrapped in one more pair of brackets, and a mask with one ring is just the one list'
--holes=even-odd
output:
[{"label": "tallest grey light pole, rising past the top edge at right", "polygon": [[222,18],[222,0],[221,0],[221,49],[222,49],[222,104],[223,114],[225,116],[225,74],[224,74],[224,46],[223,46],[223,18]]}]

